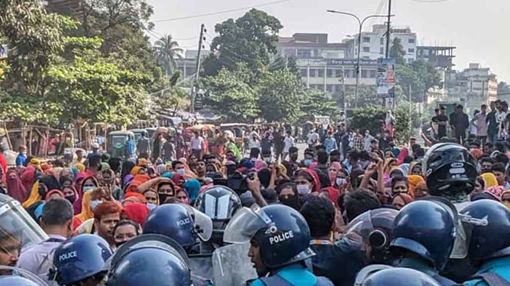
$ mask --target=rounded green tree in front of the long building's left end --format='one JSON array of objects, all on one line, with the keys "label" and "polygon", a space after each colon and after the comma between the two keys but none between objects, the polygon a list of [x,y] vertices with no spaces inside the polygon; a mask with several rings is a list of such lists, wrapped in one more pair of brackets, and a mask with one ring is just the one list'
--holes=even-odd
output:
[{"label": "rounded green tree in front of the long building's left end", "polygon": [[295,121],[301,116],[304,83],[287,69],[261,71],[259,77],[261,116],[269,121]]}]

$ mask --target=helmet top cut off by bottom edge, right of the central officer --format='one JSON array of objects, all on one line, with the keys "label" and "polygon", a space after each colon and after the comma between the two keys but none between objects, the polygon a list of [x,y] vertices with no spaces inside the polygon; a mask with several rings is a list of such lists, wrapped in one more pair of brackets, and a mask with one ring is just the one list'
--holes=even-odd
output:
[{"label": "helmet top cut off by bottom edge, right of the central officer", "polygon": [[420,271],[410,268],[377,268],[370,265],[358,273],[354,286],[441,286],[441,284]]}]

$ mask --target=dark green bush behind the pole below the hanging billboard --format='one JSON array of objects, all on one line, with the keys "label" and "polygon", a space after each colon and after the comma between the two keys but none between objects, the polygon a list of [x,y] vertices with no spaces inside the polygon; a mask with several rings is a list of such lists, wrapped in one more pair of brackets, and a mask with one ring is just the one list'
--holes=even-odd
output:
[{"label": "dark green bush behind the pole below the hanging billboard", "polygon": [[[409,140],[413,134],[409,128],[409,108],[399,106],[393,111],[395,116],[395,139],[400,144]],[[416,117],[416,113],[413,113]],[[371,134],[380,133],[380,125],[386,118],[386,109],[380,105],[367,105],[364,108],[355,109],[349,118],[349,126],[360,130],[370,130]]]}]

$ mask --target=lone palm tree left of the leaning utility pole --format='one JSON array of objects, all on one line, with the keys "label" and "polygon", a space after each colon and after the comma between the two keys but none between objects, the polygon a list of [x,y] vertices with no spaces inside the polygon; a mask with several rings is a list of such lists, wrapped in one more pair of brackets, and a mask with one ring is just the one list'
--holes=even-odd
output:
[{"label": "lone palm tree left of the leaning utility pole", "polygon": [[183,52],[184,50],[179,47],[177,41],[172,39],[171,35],[165,35],[154,43],[156,60],[165,68],[167,76],[177,69],[177,62],[175,59],[182,59]]}]

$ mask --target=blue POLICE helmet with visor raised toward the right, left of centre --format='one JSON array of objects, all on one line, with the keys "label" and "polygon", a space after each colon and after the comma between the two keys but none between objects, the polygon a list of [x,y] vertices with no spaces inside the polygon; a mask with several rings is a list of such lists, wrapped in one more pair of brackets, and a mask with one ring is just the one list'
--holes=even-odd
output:
[{"label": "blue POLICE helmet with visor raised toward the right, left of centre", "polygon": [[183,247],[195,245],[196,239],[207,241],[212,235],[211,218],[184,204],[165,204],[152,210],[143,225],[144,234],[161,234]]}]

